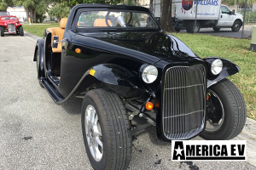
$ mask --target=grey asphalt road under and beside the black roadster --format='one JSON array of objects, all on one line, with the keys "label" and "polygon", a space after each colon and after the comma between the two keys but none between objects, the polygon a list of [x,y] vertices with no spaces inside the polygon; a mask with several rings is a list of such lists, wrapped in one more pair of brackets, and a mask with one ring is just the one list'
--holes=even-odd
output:
[{"label": "grey asphalt road under and beside the black roadster", "polygon": [[[0,37],[0,169],[91,169],[82,138],[82,99],[55,105],[39,86],[32,61],[36,39],[27,33]],[[255,125],[247,118],[236,137],[247,140],[247,161],[171,161],[171,144],[148,127],[133,141],[129,169],[256,169]]]}]

